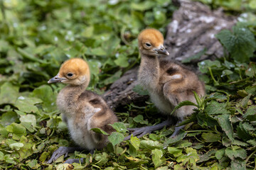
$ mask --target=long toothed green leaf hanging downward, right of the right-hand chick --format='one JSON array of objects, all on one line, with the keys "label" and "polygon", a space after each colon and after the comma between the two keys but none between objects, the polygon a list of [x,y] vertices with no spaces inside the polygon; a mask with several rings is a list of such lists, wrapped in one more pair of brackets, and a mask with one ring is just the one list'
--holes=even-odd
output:
[{"label": "long toothed green leaf hanging downward, right of the right-hand chick", "polygon": [[225,135],[228,136],[228,138],[233,142],[234,141],[234,132],[233,132],[233,126],[230,122],[230,115],[223,114],[218,115],[218,123],[222,130],[225,132]]}]

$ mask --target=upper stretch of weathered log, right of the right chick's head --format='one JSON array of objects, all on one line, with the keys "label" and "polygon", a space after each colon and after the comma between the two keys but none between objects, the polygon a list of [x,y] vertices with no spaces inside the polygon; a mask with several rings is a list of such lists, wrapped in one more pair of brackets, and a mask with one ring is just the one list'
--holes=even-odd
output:
[{"label": "upper stretch of weathered log, right of the right chick's head", "polygon": [[[222,9],[211,11],[200,2],[181,0],[181,7],[174,12],[169,23],[165,45],[172,59],[182,61],[206,48],[201,60],[223,56],[223,47],[215,38],[220,30],[230,29],[236,21]],[[198,61],[196,61],[198,62]]]}]

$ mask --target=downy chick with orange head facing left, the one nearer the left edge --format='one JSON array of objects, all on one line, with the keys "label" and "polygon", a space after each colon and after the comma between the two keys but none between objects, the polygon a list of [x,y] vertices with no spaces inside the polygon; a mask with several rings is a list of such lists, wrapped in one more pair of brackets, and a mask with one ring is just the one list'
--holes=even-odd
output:
[{"label": "downy chick with orange head facing left, the one nearer the left edge", "polygon": [[[61,82],[65,86],[57,98],[57,106],[63,113],[63,121],[68,125],[70,137],[79,146],[60,147],[53,152],[48,164],[58,159],[61,155],[68,156],[75,150],[102,149],[107,145],[107,136],[93,132],[92,128],[101,128],[105,132],[114,131],[112,124],[117,122],[117,116],[107,106],[102,97],[86,91],[90,81],[90,69],[88,64],[79,58],[67,60],[60,67],[58,74],[48,81],[50,83]],[[79,159],[68,159],[65,163],[79,162]]]}]

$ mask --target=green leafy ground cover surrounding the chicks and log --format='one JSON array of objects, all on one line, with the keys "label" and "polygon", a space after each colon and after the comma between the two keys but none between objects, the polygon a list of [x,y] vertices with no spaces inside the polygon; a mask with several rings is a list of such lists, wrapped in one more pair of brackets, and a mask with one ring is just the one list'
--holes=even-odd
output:
[{"label": "green leafy ground cover surrounding the chicks and log", "polygon": [[[245,5],[248,11],[255,9],[252,1]],[[193,104],[197,109],[176,138],[169,139],[171,127],[123,141],[127,127],[154,125],[164,119],[150,102],[131,104],[126,112],[116,113],[120,122],[113,127],[117,132],[109,135],[105,149],[69,154],[69,158],[85,158],[84,164],[62,164],[64,157],[46,164],[55,149],[74,145],[55,106],[55,96],[63,86],[47,84],[60,64],[70,57],[87,60],[92,71],[90,89],[103,93],[139,64],[139,31],[150,26],[164,32],[175,10],[166,0],[100,2],[0,1],[0,168],[255,169],[253,13],[243,13],[233,30],[216,35],[225,56],[198,63],[208,96],[195,94],[196,104],[178,106]],[[228,8],[228,2],[220,2],[207,3]],[[228,9],[235,10],[232,4]]]}]

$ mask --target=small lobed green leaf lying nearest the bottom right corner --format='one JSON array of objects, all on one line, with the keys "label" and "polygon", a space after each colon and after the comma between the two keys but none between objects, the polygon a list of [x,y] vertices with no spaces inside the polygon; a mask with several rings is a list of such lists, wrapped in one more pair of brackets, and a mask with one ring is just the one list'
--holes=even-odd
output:
[{"label": "small lobed green leaf lying nearest the bottom right corner", "polygon": [[225,149],[225,155],[227,155],[232,160],[235,160],[236,158],[245,159],[246,150],[238,146],[228,147]]}]

